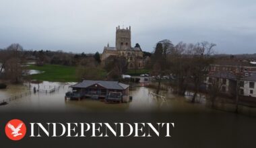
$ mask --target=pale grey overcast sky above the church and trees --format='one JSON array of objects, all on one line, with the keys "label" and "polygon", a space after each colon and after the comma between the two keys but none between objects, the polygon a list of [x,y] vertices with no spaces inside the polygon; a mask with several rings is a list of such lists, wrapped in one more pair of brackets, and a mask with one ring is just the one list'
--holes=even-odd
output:
[{"label": "pale grey overcast sky above the church and trees", "polygon": [[0,48],[102,52],[115,28],[131,26],[132,46],[207,40],[218,53],[256,53],[255,0],[1,0]]}]

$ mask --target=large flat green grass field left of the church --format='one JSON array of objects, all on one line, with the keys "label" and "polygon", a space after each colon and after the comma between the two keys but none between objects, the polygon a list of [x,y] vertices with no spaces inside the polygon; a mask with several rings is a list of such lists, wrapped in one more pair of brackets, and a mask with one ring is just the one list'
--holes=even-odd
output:
[{"label": "large flat green grass field left of the church", "polygon": [[77,75],[75,75],[76,67],[68,67],[63,65],[44,65],[44,66],[30,65],[28,69],[44,71],[44,73],[31,75],[31,79],[37,79],[40,81],[60,81],[60,82],[77,81]]}]

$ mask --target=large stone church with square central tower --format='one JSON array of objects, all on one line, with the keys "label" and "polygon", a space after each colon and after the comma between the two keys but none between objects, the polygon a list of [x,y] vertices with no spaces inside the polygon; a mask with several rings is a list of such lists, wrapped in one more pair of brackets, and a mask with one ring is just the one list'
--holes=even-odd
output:
[{"label": "large stone church with square central tower", "polygon": [[128,69],[143,69],[143,52],[140,47],[131,47],[131,26],[116,30],[116,46],[109,44],[104,46],[101,61],[104,62],[110,57],[123,57],[127,60]]}]

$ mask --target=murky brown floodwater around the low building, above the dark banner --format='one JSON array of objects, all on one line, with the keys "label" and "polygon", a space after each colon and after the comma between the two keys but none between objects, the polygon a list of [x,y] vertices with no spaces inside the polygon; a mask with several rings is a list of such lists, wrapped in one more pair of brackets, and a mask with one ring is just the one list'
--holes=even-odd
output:
[{"label": "murky brown floodwater around the low building, above the dark banner", "polygon": [[[65,92],[70,91],[69,86],[74,83],[58,83],[43,81],[42,83],[26,83],[25,85],[8,85],[7,89],[0,89],[0,102],[5,100],[8,102],[5,106],[0,106],[0,110],[88,110],[93,112],[101,111],[117,111],[117,112],[133,112],[133,111],[173,111],[173,112],[220,112],[207,107],[204,96],[199,96],[197,104],[189,103],[189,95],[186,97],[176,96],[171,91],[160,91],[160,95],[165,97],[155,98],[149,92],[154,89],[148,87],[133,87],[129,95],[133,96],[133,100],[123,104],[106,104],[103,101],[83,99],[65,101]],[[33,88],[39,88],[36,93]],[[25,94],[26,93],[26,94]],[[11,98],[11,99],[9,99]],[[216,104],[223,110],[232,111],[234,105]],[[256,113],[255,108],[245,108],[241,106],[240,110],[245,112]],[[232,114],[232,113],[228,113]]]}]

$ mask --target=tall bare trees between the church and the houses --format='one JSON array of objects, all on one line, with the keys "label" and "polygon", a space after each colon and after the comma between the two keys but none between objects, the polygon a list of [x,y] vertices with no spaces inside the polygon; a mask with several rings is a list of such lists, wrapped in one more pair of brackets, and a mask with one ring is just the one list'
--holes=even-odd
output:
[{"label": "tall bare trees between the church and the houses", "polygon": [[174,46],[170,40],[162,40],[156,44],[151,58],[151,75],[156,76],[158,81],[157,93],[159,93],[162,77],[172,75],[174,89],[179,95],[185,95],[189,83],[193,83],[195,96],[199,86],[203,83],[210,64],[213,62],[211,55],[214,53],[216,44],[209,42],[198,42],[187,44],[179,42]]}]

